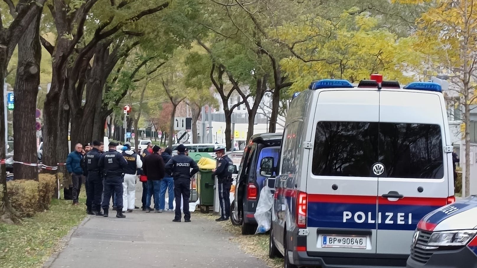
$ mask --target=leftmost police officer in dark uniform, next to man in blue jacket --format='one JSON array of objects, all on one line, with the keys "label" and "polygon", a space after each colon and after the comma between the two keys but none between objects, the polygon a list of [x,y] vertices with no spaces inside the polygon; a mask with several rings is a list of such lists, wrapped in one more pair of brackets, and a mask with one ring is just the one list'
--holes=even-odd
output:
[{"label": "leftmost police officer in dark uniform, next to man in blue jacket", "polygon": [[99,168],[99,159],[103,153],[104,144],[93,141],[93,149],[85,156],[86,172],[86,207],[89,215],[104,216],[101,212],[101,197],[103,194],[103,177]]}]

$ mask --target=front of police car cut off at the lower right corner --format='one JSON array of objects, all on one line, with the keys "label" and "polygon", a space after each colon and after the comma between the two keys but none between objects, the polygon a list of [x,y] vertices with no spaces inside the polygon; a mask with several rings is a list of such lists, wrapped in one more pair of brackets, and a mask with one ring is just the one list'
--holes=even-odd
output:
[{"label": "front of police car cut off at the lower right corner", "polygon": [[434,210],[417,225],[408,268],[477,268],[477,197]]}]

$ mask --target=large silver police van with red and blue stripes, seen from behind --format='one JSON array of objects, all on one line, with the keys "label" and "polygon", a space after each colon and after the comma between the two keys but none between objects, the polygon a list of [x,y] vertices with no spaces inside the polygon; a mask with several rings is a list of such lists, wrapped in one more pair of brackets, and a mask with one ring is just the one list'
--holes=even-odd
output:
[{"label": "large silver police van with red and blue stripes, seen from behind", "polygon": [[311,83],[287,113],[270,257],[285,267],[405,267],[418,221],[455,201],[451,153],[439,84]]}]

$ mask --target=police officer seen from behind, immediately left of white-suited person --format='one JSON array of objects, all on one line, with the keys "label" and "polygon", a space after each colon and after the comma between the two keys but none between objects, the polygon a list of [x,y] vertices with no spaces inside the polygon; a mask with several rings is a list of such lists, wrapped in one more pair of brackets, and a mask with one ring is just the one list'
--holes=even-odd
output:
[{"label": "police officer seen from behind, immediately left of white-suited person", "polygon": [[104,175],[104,196],[101,206],[104,210],[104,216],[108,216],[109,200],[116,194],[116,217],[125,218],[123,214],[123,173],[128,168],[124,156],[116,151],[117,144],[109,143],[109,151],[101,155],[99,167],[103,169]]}]

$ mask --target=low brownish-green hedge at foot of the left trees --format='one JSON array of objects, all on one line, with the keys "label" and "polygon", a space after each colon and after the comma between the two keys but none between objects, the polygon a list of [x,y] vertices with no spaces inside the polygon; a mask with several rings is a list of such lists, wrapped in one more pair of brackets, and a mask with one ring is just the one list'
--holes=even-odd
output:
[{"label": "low brownish-green hedge at foot of the left trees", "polygon": [[39,174],[38,180],[7,182],[10,205],[18,216],[31,217],[49,208],[52,196],[55,194],[55,175]]}]

